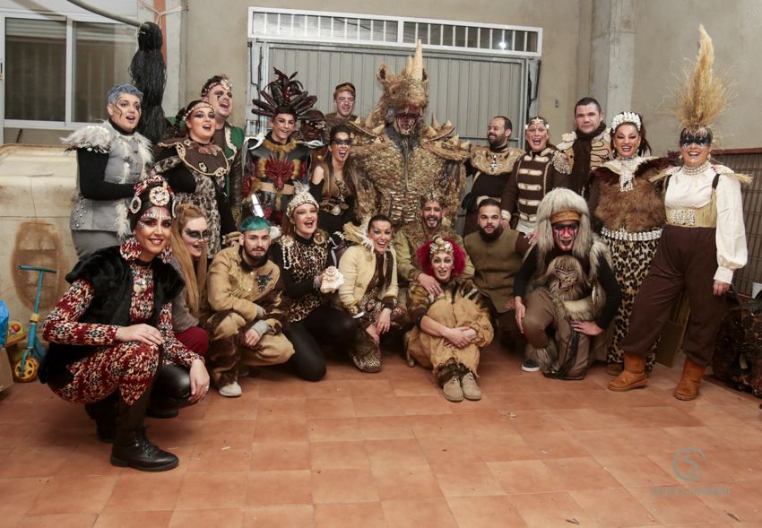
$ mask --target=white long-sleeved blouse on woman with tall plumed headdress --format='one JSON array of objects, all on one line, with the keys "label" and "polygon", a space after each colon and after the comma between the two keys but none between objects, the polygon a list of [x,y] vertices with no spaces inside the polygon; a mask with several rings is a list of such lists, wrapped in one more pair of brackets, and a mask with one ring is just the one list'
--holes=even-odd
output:
[{"label": "white long-sleeved blouse on woman with tall plumed headdress", "polygon": [[[674,209],[699,208],[712,199],[712,182],[717,174],[711,166],[699,174],[676,171],[667,186],[664,204]],[[717,182],[717,271],[715,281],[731,283],[733,271],[747,261],[746,230],[743,227],[743,201],[740,182],[720,175]]]}]

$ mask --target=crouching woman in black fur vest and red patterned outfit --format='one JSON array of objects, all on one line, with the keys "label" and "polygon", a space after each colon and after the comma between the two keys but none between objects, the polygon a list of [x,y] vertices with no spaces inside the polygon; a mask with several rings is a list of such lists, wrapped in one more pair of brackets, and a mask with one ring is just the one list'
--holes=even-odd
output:
[{"label": "crouching woman in black fur vest and red patterned outfit", "polygon": [[160,363],[190,368],[190,402],[209,390],[203,359],[172,333],[172,304],[183,281],[169,265],[173,195],[151,177],[135,186],[128,218],[133,237],[96,251],[66,275],[71,287],[43,326],[50,344],[40,380],[69,402],[85,403],[111,463],[146,472],[178,465],[143,428]]}]

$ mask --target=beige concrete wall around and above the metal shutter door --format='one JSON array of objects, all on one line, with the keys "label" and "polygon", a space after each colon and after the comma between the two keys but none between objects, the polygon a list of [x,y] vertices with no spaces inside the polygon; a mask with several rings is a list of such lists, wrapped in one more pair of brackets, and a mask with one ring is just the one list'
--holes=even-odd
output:
[{"label": "beige concrete wall around and above the metal shutter door", "polygon": [[[233,122],[237,125],[244,121],[245,101],[242,99],[247,86],[247,16],[251,5],[282,7],[283,3],[229,0],[221,9],[217,2],[188,0],[186,100],[194,98],[212,74],[224,71],[234,84],[237,100]],[[556,141],[571,127],[572,106],[588,83],[591,0],[421,0],[405,4],[404,13],[400,13],[400,4],[396,0],[377,0],[372,4],[350,0],[303,0],[298,6],[289,7],[543,28],[539,112],[553,125]],[[558,108],[556,100],[559,101]],[[321,101],[320,104],[327,106],[330,103]],[[169,108],[166,109],[169,113]],[[484,124],[485,134],[486,128],[487,123]]]}]

